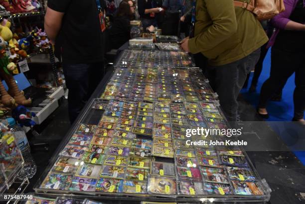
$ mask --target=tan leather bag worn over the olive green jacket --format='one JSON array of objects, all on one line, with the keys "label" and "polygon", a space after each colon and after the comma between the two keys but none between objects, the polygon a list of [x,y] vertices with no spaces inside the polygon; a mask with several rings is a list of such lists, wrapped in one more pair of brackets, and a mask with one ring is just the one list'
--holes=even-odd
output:
[{"label": "tan leather bag worn over the olive green jacket", "polygon": [[234,0],[234,5],[250,10],[259,20],[273,18],[285,11],[284,0],[250,0],[249,3]]}]

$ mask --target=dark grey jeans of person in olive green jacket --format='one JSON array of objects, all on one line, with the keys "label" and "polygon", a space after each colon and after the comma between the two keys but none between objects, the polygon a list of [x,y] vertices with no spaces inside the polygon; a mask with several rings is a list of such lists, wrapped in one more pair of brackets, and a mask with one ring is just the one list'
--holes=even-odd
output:
[{"label": "dark grey jeans of person in olive green jacket", "polygon": [[237,120],[237,97],[242,89],[247,75],[255,67],[261,54],[257,49],[248,56],[235,62],[221,65],[208,65],[206,75],[214,91],[218,94],[221,108],[229,122],[235,125]]}]

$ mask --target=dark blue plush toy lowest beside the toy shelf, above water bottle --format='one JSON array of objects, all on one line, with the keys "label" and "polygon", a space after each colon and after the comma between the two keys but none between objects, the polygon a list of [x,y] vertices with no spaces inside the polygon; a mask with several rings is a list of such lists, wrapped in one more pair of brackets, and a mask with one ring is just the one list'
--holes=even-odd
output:
[{"label": "dark blue plush toy lowest beside the toy shelf, above water bottle", "polygon": [[36,123],[32,120],[32,117],[35,117],[36,114],[25,108],[24,106],[17,106],[12,110],[12,117],[15,121],[21,126],[32,127]]}]

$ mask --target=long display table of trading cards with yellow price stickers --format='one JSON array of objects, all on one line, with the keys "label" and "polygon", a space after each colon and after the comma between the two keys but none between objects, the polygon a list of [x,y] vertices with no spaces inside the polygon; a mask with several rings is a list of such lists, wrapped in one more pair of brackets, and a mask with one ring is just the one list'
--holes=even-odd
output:
[{"label": "long display table of trading cards with yellow price stickers", "polygon": [[187,129],[229,128],[217,94],[193,66],[182,51],[125,50],[38,180],[36,196],[268,201],[271,190],[242,147],[187,145],[226,137],[188,137]]}]

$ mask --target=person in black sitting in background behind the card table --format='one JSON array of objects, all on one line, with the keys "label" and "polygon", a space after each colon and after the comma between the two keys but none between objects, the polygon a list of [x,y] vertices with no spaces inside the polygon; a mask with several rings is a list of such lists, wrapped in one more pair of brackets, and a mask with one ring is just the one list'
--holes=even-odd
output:
[{"label": "person in black sitting in background behind the card table", "polygon": [[110,28],[111,47],[120,48],[130,39],[130,21],[134,18],[135,5],[132,0],[123,0]]}]

